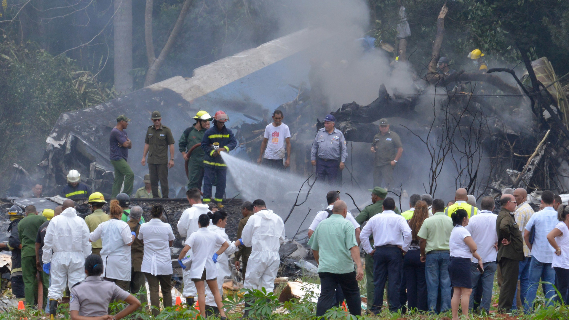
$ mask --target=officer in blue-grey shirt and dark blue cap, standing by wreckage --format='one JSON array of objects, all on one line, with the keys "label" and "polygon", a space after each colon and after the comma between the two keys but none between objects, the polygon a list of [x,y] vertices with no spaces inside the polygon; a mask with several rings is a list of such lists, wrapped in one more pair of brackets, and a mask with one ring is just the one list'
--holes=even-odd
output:
[{"label": "officer in blue-grey shirt and dark blue cap, standing by wreckage", "polygon": [[338,169],[344,170],[344,162],[348,157],[344,134],[334,124],[336,118],[327,114],[324,128],[318,130],[312,142],[311,162],[316,166],[316,177],[320,182],[336,184]]}]

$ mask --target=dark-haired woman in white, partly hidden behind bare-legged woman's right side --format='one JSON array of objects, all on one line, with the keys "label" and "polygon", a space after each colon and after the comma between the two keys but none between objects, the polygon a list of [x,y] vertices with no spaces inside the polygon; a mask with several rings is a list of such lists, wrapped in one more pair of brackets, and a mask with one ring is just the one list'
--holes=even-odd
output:
[{"label": "dark-haired woman in white, partly hidden behind bare-legged woman's right side", "polygon": [[[221,253],[217,257],[217,289],[219,290],[221,298],[223,298],[223,282],[225,277],[231,276],[231,270],[229,269],[229,255],[234,252],[237,252],[237,247],[232,241],[229,241],[229,236],[225,233],[225,225],[227,225],[227,212],[220,210],[216,211],[215,213],[211,214],[212,216],[212,223],[209,224],[208,229],[212,232],[217,233],[220,235],[227,243],[229,247],[225,249],[224,253]],[[216,246],[215,250],[219,250],[221,245]],[[211,315],[211,311],[213,314],[218,314],[219,310],[217,309],[215,299],[213,298],[213,293],[209,289],[209,286],[205,287],[205,317],[209,317]]]}]

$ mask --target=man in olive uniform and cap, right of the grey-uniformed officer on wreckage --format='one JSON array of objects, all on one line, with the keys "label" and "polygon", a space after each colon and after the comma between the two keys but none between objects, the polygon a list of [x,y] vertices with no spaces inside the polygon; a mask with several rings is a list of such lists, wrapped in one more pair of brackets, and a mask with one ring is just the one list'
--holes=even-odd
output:
[{"label": "man in olive uniform and cap, right of the grey-uniformed officer on wreckage", "polygon": [[387,119],[380,119],[380,133],[373,137],[372,152],[375,153],[373,159],[373,185],[383,186],[387,189],[393,184],[393,169],[395,163],[401,158],[403,145],[397,133],[389,130]]}]

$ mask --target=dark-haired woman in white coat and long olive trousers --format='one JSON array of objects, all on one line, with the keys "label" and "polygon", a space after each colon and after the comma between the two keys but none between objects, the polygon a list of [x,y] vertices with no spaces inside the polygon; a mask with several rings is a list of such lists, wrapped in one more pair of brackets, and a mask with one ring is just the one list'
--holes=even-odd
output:
[{"label": "dark-haired woman in white coat and long olive trousers", "polygon": [[170,247],[174,242],[174,232],[170,224],[163,223],[162,204],[154,204],[150,211],[151,219],[141,224],[138,239],[144,243],[141,271],[144,272],[150,289],[150,304],[154,317],[160,313],[158,284],[162,289],[164,307],[172,306],[172,262]]}]

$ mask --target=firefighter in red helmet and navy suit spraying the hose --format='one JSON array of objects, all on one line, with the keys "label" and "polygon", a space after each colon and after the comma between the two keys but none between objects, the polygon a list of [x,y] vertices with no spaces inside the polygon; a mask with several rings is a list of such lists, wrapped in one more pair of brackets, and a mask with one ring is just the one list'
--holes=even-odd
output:
[{"label": "firefighter in red helmet and navy suit spraying the hose", "polygon": [[215,198],[219,208],[223,195],[225,194],[225,183],[227,178],[227,166],[221,158],[220,152],[229,152],[237,146],[237,140],[233,132],[225,126],[229,117],[223,111],[218,111],[213,117],[213,126],[204,133],[201,140],[201,149],[204,150],[204,200],[210,202],[212,196],[212,186],[216,183]]}]

